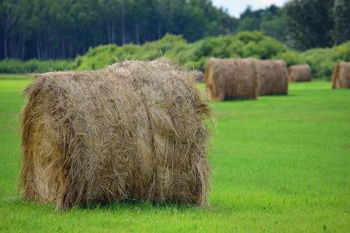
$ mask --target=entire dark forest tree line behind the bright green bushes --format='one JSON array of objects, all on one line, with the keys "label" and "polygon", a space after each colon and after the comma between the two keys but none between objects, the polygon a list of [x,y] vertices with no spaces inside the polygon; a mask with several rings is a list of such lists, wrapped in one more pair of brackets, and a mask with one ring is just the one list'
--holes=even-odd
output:
[{"label": "entire dark forest tree line behind the bright green bushes", "polygon": [[0,0],[0,59],[67,59],[104,44],[143,44],[167,33],[188,42],[263,31],[290,48],[350,39],[349,0],[293,0],[246,8],[239,19],[210,0]]}]

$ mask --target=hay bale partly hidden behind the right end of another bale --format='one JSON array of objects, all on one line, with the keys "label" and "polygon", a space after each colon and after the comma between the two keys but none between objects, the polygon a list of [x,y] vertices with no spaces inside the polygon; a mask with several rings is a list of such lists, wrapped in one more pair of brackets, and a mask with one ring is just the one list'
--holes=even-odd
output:
[{"label": "hay bale partly hidden behind the right end of another bale", "polygon": [[288,94],[286,62],[255,59],[260,95]]}]

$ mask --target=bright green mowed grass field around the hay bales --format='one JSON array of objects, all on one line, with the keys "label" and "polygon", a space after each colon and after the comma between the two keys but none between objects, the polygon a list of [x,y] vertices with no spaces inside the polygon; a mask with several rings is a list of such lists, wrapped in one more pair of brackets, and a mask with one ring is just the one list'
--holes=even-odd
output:
[{"label": "bright green mowed grass field around the hay bales", "polygon": [[0,79],[0,232],[350,232],[350,90],[291,83],[288,96],[212,103],[208,209],[123,202],[62,213],[15,197],[30,81]]}]

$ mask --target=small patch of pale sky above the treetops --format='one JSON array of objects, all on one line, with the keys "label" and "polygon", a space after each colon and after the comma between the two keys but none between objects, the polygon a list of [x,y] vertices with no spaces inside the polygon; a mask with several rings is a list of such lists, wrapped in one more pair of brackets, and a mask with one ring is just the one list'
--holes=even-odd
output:
[{"label": "small patch of pale sky above the treetops", "polygon": [[288,0],[211,0],[214,6],[228,9],[228,13],[234,17],[239,17],[248,5],[251,6],[252,10],[258,10],[272,4],[283,6],[287,1]]}]

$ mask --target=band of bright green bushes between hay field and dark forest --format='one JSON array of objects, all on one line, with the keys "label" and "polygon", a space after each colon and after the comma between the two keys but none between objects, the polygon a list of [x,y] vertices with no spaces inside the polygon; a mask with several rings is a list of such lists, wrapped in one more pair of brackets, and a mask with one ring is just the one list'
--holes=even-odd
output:
[{"label": "band of bright green bushes between hay field and dark forest", "polygon": [[333,48],[315,48],[304,52],[289,50],[276,39],[261,31],[242,31],[239,34],[207,37],[195,43],[187,43],[183,36],[166,34],[158,41],[135,45],[100,45],[90,48],[75,60],[31,59],[27,62],[4,59],[0,61],[0,73],[40,73],[57,70],[102,69],[108,64],[128,60],[152,60],[158,57],[178,59],[188,69],[204,71],[209,57],[255,57],[258,59],[283,59],[287,65],[311,66],[314,78],[330,80],[335,64],[350,61],[350,41]]}]

